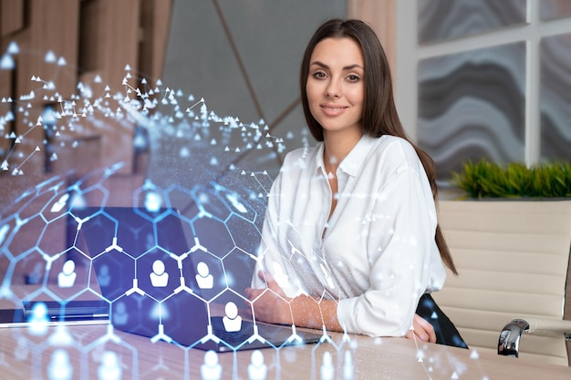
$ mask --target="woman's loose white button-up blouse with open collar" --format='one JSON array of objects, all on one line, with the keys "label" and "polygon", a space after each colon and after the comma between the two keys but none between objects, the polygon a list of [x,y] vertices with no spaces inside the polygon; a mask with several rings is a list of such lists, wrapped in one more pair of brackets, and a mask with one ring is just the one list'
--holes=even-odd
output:
[{"label": "woman's loose white button-up blouse with open collar", "polygon": [[402,336],[420,295],[441,289],[446,272],[434,241],[431,187],[410,143],[364,136],[337,169],[337,207],[323,143],[296,149],[268,195],[257,272],[270,272],[288,297],[337,300],[351,334]]}]

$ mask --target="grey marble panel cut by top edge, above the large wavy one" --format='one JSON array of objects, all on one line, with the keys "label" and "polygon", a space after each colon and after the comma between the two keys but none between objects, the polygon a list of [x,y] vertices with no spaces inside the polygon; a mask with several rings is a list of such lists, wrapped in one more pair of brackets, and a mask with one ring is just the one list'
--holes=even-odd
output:
[{"label": "grey marble panel cut by top edge, above the large wavy one", "polygon": [[526,0],[418,0],[418,41],[434,43],[525,23]]}]

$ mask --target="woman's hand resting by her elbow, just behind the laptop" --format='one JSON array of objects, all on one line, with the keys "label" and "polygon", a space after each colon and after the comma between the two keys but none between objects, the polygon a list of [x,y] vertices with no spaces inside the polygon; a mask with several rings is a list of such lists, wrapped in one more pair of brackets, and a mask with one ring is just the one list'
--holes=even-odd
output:
[{"label": "woman's hand resting by her elbow, just behind the laptop", "polygon": [[285,296],[269,272],[259,271],[258,276],[266,281],[267,288],[246,288],[244,291],[254,308],[255,319],[270,324],[293,324],[291,298]]}]

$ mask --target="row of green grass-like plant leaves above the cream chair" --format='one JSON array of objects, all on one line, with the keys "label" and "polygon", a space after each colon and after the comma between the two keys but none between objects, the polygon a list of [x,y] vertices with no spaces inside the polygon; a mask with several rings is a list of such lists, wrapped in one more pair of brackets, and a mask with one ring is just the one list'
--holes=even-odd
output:
[{"label": "row of green grass-like plant leaves above the cream chair", "polygon": [[503,168],[481,159],[469,160],[452,183],[471,198],[566,198],[571,197],[571,163],[550,162],[527,168],[512,162]]}]

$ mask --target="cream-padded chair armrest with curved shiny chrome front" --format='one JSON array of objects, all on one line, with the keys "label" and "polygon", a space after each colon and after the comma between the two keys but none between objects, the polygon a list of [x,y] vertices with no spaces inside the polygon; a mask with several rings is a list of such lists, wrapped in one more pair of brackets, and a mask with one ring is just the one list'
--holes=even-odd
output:
[{"label": "cream-padded chair armrest with curved shiny chrome front", "polygon": [[571,321],[555,318],[520,317],[504,326],[498,340],[498,354],[517,357],[522,333],[571,335]]}]

